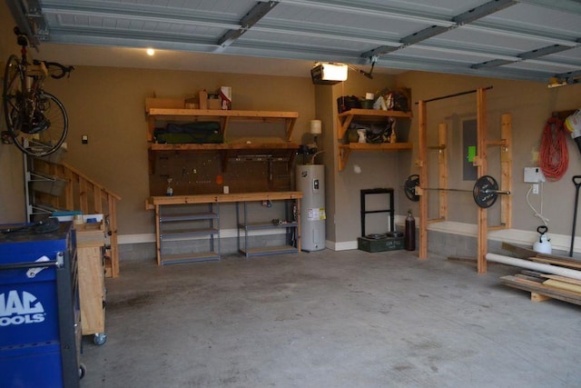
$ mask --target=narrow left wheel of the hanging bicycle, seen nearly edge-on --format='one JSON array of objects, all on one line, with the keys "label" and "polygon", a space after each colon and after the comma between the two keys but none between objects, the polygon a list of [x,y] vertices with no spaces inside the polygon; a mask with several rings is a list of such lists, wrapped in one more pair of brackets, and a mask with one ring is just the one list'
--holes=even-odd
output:
[{"label": "narrow left wheel of the hanging bicycle, seen nearly edge-on", "polygon": [[22,110],[22,85],[24,84],[25,74],[20,66],[20,59],[16,55],[10,55],[6,62],[4,73],[4,89],[2,91],[2,100],[4,102],[4,114],[6,127],[8,131],[3,133],[3,140],[8,136],[10,140],[15,139],[20,128],[19,122],[13,119],[20,116]]}]

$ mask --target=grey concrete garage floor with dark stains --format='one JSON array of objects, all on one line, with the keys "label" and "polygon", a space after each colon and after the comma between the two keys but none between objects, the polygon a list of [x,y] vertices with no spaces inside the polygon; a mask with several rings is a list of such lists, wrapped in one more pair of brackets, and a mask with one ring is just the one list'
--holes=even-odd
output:
[{"label": "grey concrete garage floor with dark stains", "polygon": [[581,308],[499,284],[517,268],[325,250],[121,270],[83,388],[581,386]]}]

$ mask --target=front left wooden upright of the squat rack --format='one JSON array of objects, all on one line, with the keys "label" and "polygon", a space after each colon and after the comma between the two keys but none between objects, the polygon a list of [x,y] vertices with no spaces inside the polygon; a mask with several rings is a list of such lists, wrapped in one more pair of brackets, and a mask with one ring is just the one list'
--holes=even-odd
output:
[{"label": "front left wooden upright of the squat rack", "polygon": [[[419,102],[419,186],[428,187],[427,106]],[[419,195],[419,258],[428,257],[428,190]]]}]

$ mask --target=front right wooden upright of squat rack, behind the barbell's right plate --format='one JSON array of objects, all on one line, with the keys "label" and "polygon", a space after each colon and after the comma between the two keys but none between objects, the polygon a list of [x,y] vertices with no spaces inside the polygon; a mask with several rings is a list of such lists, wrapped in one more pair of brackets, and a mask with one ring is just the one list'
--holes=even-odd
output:
[{"label": "front right wooden upright of squat rack, behind the barbell's right plate", "polygon": [[[487,174],[487,100],[486,90],[477,91],[478,177]],[[487,209],[478,207],[478,274],[487,273]]]}]

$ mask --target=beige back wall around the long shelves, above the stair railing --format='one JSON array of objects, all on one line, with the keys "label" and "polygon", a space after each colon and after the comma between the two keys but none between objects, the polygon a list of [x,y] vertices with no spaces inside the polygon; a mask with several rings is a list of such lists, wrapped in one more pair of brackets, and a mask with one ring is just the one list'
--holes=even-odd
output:
[{"label": "beige back wall around the long shelves, above the stair railing", "polygon": [[[145,97],[189,97],[221,85],[232,87],[234,109],[299,112],[295,143],[314,118],[310,78],[79,67],[70,79],[47,83],[69,114],[65,162],[122,197],[119,234],[153,233],[153,214],[144,210],[149,195]],[[88,144],[81,144],[82,134],[88,134]]]}]

